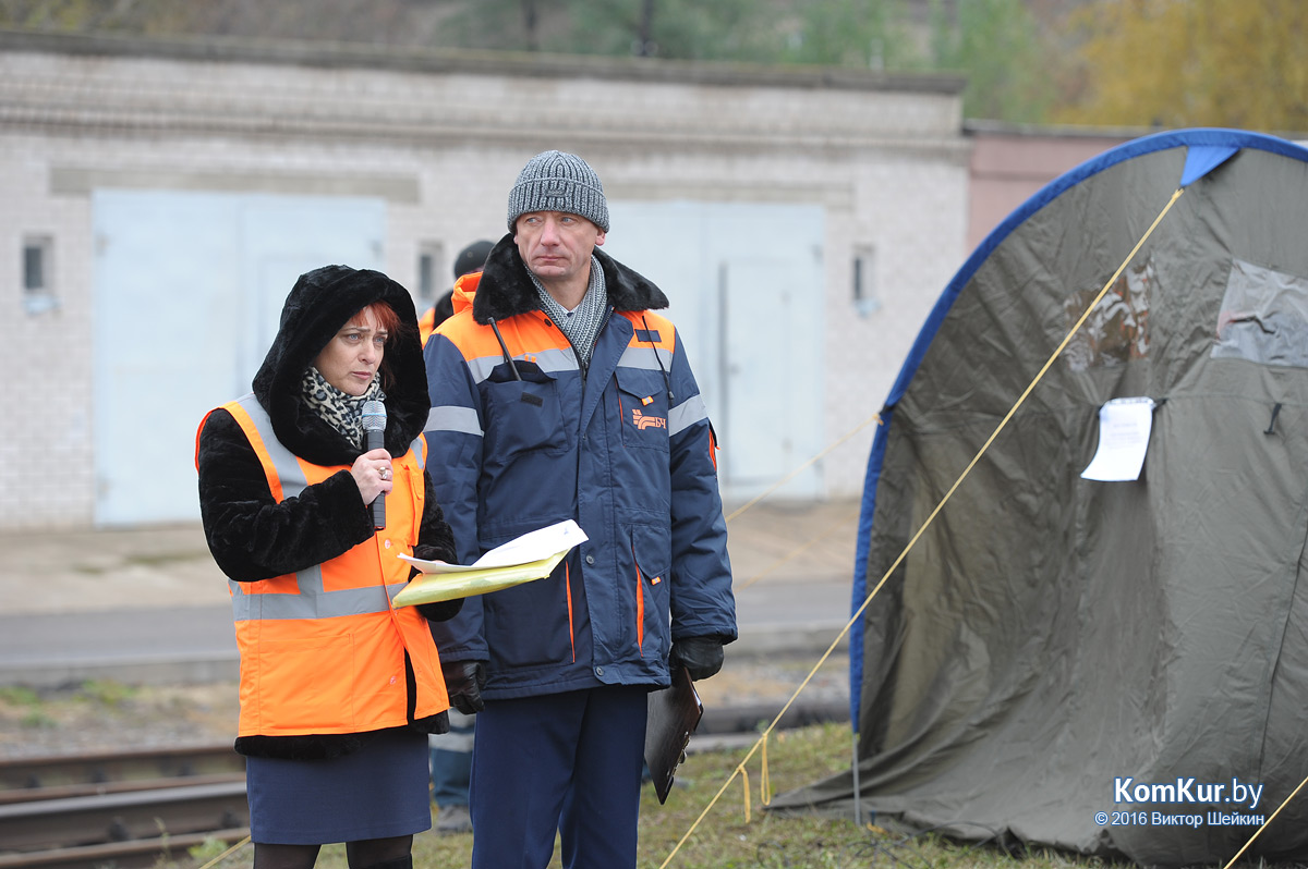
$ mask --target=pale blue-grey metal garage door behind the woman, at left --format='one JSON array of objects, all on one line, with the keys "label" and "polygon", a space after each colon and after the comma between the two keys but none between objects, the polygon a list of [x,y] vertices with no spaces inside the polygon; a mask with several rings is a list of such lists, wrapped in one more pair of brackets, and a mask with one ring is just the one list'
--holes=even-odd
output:
[{"label": "pale blue-grey metal garage door behind the woman, at left", "polygon": [[305,271],[379,268],[382,200],[97,191],[95,524],[194,520],[195,431],[250,389]]}]

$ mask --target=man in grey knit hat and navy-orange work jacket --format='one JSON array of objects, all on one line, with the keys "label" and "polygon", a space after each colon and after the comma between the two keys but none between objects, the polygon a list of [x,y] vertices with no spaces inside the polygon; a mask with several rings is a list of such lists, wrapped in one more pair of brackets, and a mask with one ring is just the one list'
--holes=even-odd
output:
[{"label": "man in grey knit hat and navy-orange work jacket", "polygon": [[557,831],[569,869],[634,866],[647,694],[736,636],[713,433],[667,298],[598,250],[594,170],[538,154],[508,217],[426,345],[437,497],[464,563],[565,519],[589,540],[439,647],[451,702],[484,700],[472,865],[544,868]]}]

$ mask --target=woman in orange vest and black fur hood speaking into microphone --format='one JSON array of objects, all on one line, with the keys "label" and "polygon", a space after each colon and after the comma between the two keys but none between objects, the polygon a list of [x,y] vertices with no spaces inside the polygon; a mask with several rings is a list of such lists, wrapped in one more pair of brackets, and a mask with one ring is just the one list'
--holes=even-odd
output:
[{"label": "woman in orange vest and black fur hood speaking into microphone", "polygon": [[[365,401],[385,402],[385,448],[365,446]],[[409,869],[430,827],[426,734],[449,729],[449,700],[428,619],[462,601],[391,605],[416,574],[400,554],[454,559],[422,465],[428,409],[408,293],[328,265],[290,290],[254,392],[200,425],[200,514],[241,649],[255,869],[313,866],[334,842],[353,869]]]}]

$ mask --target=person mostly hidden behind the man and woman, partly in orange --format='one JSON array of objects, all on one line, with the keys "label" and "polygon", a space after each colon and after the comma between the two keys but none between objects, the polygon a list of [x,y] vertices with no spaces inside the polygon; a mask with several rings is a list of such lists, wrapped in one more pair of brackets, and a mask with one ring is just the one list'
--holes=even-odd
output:
[{"label": "person mostly hidden behind the man and woman, partly in orange", "polygon": [[[487,255],[494,247],[493,242],[472,242],[454,257],[454,280],[464,274],[480,272]],[[436,327],[454,314],[454,290],[437,299],[436,304],[419,320],[422,329],[422,344]],[[450,644],[450,635],[443,622],[432,622],[432,636],[437,648]],[[471,710],[471,707],[467,707]],[[439,812],[436,815],[436,831],[441,835],[468,832],[472,818],[468,814],[468,784],[472,772],[472,741],[476,737],[476,715],[459,708],[450,710],[450,732],[433,734],[430,738],[432,757],[432,800]]]}]

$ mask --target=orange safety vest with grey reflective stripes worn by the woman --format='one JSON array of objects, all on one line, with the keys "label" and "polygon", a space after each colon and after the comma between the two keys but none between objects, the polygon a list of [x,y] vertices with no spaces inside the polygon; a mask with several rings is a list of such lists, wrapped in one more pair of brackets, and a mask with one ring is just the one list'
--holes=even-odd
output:
[{"label": "orange safety vest with grey reflective stripes worn by the woman", "polygon": [[[314,465],[273,435],[246,395],[222,405],[263,463],[277,500],[294,498],[349,465]],[[200,427],[204,427],[201,422]],[[413,665],[413,719],[449,708],[426,619],[391,598],[408,583],[422,520],[426,442],[392,460],[386,528],[328,562],[254,583],[229,580],[241,652],[239,736],[364,733],[409,721],[404,653]]]}]

